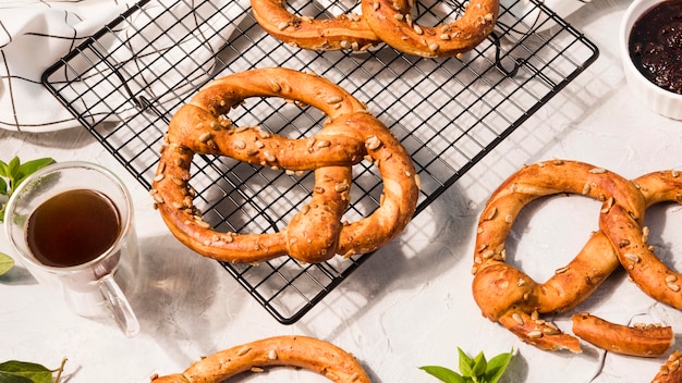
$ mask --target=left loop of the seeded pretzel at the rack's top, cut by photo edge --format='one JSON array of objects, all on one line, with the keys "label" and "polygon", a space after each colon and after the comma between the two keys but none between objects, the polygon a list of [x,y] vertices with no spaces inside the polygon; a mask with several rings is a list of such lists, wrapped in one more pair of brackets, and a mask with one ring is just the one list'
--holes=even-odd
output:
[{"label": "left loop of the seeded pretzel at the rack's top, cut by photo edge", "polygon": [[381,41],[356,13],[317,20],[297,16],[285,0],[252,0],[256,22],[272,37],[303,49],[363,51]]}]

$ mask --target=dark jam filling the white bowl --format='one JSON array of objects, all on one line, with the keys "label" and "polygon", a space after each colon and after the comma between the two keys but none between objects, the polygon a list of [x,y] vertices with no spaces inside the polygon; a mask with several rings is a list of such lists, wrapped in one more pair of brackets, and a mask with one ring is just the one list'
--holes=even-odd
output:
[{"label": "dark jam filling the white bowl", "polygon": [[659,87],[682,95],[682,0],[648,10],[630,34],[630,57]]}]

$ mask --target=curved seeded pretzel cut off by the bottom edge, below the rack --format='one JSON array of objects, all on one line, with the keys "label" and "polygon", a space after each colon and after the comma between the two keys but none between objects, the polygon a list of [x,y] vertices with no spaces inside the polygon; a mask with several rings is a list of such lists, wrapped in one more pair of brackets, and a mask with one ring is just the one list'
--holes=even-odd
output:
[{"label": "curved seeded pretzel cut off by the bottom edge, below the rack", "polygon": [[153,383],[219,383],[239,373],[265,367],[291,366],[317,372],[337,383],[369,383],[353,355],[307,336],[276,336],[218,351],[182,373],[151,376]]}]

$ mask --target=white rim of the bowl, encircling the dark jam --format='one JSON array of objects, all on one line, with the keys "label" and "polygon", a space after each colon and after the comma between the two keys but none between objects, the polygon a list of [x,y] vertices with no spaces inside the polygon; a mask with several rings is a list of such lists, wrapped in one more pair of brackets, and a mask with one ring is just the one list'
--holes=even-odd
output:
[{"label": "white rim of the bowl, encircling the dark jam", "polygon": [[[642,86],[646,88],[646,90],[655,92],[659,96],[674,99],[677,101],[682,102],[682,95],[675,94],[674,91],[663,89],[658,85],[651,83],[648,78],[646,78],[640,70],[635,66],[632,58],[630,57],[630,33],[635,22],[640,20],[646,12],[650,11],[660,3],[668,1],[677,1],[677,0],[634,0],[628,9],[621,20],[620,24],[620,50],[622,55],[623,65],[625,65],[625,72],[631,72],[632,74],[636,74],[635,77]],[[628,73],[625,73],[628,76]]]}]

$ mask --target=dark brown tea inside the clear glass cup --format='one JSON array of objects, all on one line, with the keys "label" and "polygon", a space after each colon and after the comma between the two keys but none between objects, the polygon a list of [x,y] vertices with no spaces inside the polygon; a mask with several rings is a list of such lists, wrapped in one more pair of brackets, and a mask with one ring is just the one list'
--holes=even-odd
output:
[{"label": "dark brown tea inside the clear glass cup", "polygon": [[39,262],[65,268],[103,254],[120,231],[121,218],[109,197],[73,189],[38,206],[26,223],[26,243]]}]

